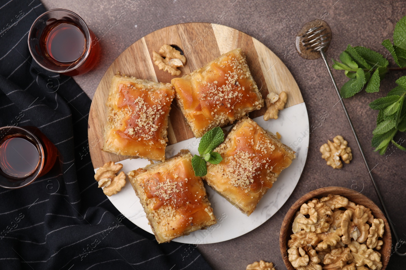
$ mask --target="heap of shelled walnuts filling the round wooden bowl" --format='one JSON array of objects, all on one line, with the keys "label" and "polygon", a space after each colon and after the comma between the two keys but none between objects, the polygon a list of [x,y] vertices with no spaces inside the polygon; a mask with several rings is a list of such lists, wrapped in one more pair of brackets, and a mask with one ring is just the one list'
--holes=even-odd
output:
[{"label": "heap of shelled walnuts filling the round wooden bowl", "polygon": [[369,208],[329,194],[302,204],[287,242],[296,270],[367,270],[382,268],[384,221]]}]

